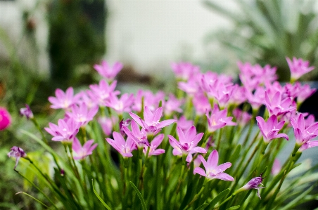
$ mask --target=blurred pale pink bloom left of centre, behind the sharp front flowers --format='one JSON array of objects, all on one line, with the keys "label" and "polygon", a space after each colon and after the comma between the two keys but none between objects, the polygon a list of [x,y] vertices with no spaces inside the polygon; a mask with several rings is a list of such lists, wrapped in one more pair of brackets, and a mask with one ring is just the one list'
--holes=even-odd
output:
[{"label": "blurred pale pink bloom left of centre, behind the sharp front flowers", "polygon": [[117,98],[113,93],[110,93],[105,105],[115,110],[117,114],[122,114],[123,112],[130,112],[132,110],[130,108],[132,103],[134,103],[134,94],[124,93],[120,98]]}]

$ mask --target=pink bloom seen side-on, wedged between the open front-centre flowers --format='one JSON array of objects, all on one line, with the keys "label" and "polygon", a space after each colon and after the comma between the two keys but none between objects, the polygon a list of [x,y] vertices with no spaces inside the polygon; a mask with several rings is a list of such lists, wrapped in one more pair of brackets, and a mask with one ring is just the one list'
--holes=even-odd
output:
[{"label": "pink bloom seen side-on, wedged between the open front-centre flowers", "polygon": [[139,130],[138,124],[134,121],[131,122],[131,126],[132,131],[130,131],[127,126],[122,127],[127,136],[134,140],[134,143],[136,143],[137,147],[144,147],[144,145],[147,145],[149,147],[150,145],[147,139],[146,131],[144,129]]}]

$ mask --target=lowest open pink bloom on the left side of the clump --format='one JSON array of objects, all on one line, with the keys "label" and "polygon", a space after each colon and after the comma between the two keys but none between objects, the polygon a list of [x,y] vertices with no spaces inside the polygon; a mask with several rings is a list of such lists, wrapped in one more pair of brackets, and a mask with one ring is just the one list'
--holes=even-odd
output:
[{"label": "lowest open pink bloom on the left side of the clump", "polygon": [[72,143],[72,150],[73,150],[73,158],[74,159],[84,159],[85,157],[91,155],[93,153],[93,150],[97,147],[98,144],[94,144],[94,140],[87,140],[86,143],[84,143],[83,147],[79,140],[75,138]]}]

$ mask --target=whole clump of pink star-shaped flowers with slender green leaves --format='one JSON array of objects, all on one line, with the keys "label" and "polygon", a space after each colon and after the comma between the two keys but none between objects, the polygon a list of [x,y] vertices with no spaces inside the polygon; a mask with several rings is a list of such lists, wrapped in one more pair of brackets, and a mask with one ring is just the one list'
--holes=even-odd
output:
[{"label": "whole clump of pink star-shaped flowers with slender green leaves", "polygon": [[[238,63],[241,85],[191,63],[173,63],[178,89],[167,94],[121,93],[115,77],[123,65],[102,61],[94,65],[98,84],[78,93],[57,89],[49,97],[51,108],[63,113],[42,133],[54,176],[27,158],[43,176],[39,181],[53,189],[57,202],[46,198],[55,209],[278,209],[281,189],[303,196],[307,182],[288,187],[288,173],[305,150],[318,146],[318,122],[299,112],[315,90],[295,82],[313,68],[301,59],[287,61],[291,83],[276,81],[276,67]],[[28,105],[20,114],[36,123]],[[0,122],[5,128],[10,120]],[[63,155],[48,150],[48,135],[62,143]],[[281,138],[295,139],[284,164],[278,154],[292,141]],[[20,147],[8,156],[16,159],[14,169],[26,158]],[[293,191],[295,183],[304,185]],[[252,189],[257,196],[243,193]]]}]

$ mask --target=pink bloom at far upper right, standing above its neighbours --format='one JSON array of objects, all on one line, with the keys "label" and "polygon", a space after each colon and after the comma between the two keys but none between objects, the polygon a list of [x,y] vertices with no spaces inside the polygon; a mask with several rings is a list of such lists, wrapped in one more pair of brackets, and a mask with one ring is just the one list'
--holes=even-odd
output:
[{"label": "pink bloom at far upper right, standing above its neighbours", "polygon": [[289,58],[286,58],[286,60],[291,70],[291,81],[295,81],[303,76],[303,74],[314,70],[314,67],[309,67],[309,61],[305,61],[301,58],[297,59],[293,57],[293,60]]}]

